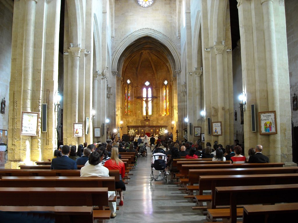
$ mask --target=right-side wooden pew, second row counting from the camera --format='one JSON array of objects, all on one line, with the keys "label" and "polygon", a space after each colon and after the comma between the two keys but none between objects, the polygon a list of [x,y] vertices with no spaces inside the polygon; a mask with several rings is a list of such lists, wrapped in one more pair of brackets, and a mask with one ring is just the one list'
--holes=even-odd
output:
[{"label": "right-side wooden pew, second row counting from the camera", "polygon": [[[224,209],[208,209],[207,212],[210,219],[214,219],[220,211],[218,218],[230,219],[231,223],[236,223],[241,210],[237,210],[237,205],[284,202],[298,202],[298,184],[216,187],[215,205],[229,205],[230,208],[226,209],[229,214],[225,216]],[[240,217],[242,213],[243,210]]]}]

